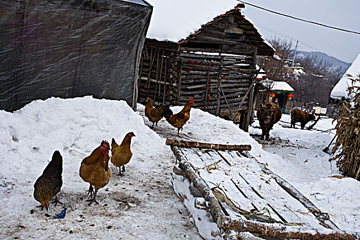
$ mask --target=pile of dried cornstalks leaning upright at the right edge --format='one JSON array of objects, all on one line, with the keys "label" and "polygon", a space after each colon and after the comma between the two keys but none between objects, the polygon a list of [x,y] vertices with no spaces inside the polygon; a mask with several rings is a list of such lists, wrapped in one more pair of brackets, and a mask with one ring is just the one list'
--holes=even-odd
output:
[{"label": "pile of dried cornstalks leaning upright at the right edge", "polygon": [[[357,83],[357,84],[355,84]],[[337,119],[337,140],[332,154],[337,167],[344,176],[360,180],[360,75],[352,78],[349,89],[355,97],[342,102]],[[337,151],[339,150],[339,151]]]}]

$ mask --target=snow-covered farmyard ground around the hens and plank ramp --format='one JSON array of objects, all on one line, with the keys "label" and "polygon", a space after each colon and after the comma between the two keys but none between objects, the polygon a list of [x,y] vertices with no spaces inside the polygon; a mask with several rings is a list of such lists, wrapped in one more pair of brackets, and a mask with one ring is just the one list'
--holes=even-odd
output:
[{"label": "snow-covered farmyard ground around the hens and plank ramp", "polygon": [[[322,149],[333,135],[276,124],[270,131],[272,140],[260,141],[261,145],[250,136],[260,129],[250,128],[249,134],[230,121],[193,109],[178,138],[176,128],[165,120],[149,128],[144,108],[139,105],[139,112],[133,112],[124,101],[82,97],[34,101],[14,113],[0,111],[0,238],[201,239],[169,182],[175,158],[165,145],[166,137],[250,144],[252,155],[329,213],[339,228],[359,231],[360,182],[329,178],[339,173],[335,163],[331,170]],[[182,107],[171,109],[177,112]],[[333,128],[331,119],[317,125]],[[121,141],[127,132],[136,137],[125,176],[117,176],[118,169],[110,163],[113,175],[98,192],[99,205],[87,206],[88,183],[79,176],[82,154],[90,154],[104,139]],[[64,158],[64,184],[58,194],[63,205],[50,204],[48,212],[40,211],[33,185],[56,149]],[[65,218],[52,219],[64,207]]]}]

